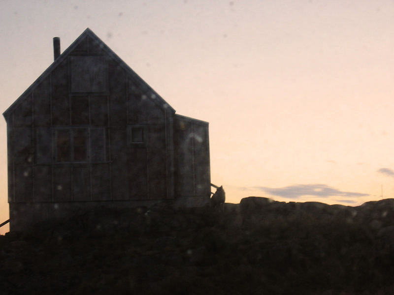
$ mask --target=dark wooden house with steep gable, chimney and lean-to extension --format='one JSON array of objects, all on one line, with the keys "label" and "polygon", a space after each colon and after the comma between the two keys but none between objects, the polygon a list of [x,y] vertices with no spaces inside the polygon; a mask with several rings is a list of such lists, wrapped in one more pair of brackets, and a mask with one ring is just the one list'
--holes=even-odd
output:
[{"label": "dark wooden house with steep gable, chimney and lean-to extension", "polygon": [[208,123],[175,110],[86,29],[3,113],[10,229],[95,207],[202,206]]}]

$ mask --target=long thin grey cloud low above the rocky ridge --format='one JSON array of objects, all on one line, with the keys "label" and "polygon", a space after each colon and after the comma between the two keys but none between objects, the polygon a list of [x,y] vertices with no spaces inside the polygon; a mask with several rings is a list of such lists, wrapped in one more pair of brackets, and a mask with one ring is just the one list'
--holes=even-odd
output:
[{"label": "long thin grey cloud low above the rocky ridge", "polygon": [[355,198],[355,197],[368,196],[368,194],[344,192],[336,188],[330,187],[326,184],[296,184],[296,185],[290,185],[281,188],[258,186],[255,188],[260,189],[263,192],[272,196],[278,196],[278,197],[289,198],[289,199],[297,199],[302,196],[314,196],[319,198],[328,198],[335,196]]}]

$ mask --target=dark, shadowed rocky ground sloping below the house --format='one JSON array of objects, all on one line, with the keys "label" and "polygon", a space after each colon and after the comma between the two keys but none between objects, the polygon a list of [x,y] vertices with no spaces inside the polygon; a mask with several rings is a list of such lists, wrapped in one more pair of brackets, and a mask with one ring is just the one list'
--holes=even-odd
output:
[{"label": "dark, shadowed rocky ground sloping below the house", "polygon": [[394,294],[394,199],[101,210],[0,236],[0,294]]}]

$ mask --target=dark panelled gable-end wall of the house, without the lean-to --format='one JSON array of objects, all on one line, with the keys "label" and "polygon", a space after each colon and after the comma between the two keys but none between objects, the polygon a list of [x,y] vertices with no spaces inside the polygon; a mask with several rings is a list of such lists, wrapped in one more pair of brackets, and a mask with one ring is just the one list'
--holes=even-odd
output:
[{"label": "dark panelled gable-end wall of the house, without the lean-to", "polygon": [[173,111],[95,42],[82,40],[7,117],[10,203],[173,198]]}]

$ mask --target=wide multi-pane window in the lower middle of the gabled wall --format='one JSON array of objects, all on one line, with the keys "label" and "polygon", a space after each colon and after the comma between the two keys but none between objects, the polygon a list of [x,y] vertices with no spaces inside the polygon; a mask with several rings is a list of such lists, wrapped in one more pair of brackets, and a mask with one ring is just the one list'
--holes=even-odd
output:
[{"label": "wide multi-pane window in the lower middle of the gabled wall", "polygon": [[105,129],[55,129],[55,159],[57,163],[105,162]]}]

